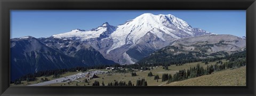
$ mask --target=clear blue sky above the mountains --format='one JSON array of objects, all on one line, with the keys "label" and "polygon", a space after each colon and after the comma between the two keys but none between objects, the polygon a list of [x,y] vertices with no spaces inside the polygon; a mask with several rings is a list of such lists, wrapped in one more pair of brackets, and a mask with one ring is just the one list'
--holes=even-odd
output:
[{"label": "clear blue sky above the mountains", "polygon": [[90,30],[104,22],[117,26],[143,13],[172,14],[215,34],[246,34],[245,10],[11,10],[11,38],[50,37],[73,29]]}]

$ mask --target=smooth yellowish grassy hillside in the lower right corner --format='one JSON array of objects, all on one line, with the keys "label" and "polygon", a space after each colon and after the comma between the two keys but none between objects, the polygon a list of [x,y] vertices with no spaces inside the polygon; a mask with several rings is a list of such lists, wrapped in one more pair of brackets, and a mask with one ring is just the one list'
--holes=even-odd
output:
[{"label": "smooth yellowish grassy hillside in the lower right corner", "polygon": [[[165,85],[165,84],[164,84]],[[172,82],[167,86],[246,86],[246,67],[227,69],[211,75]]]}]

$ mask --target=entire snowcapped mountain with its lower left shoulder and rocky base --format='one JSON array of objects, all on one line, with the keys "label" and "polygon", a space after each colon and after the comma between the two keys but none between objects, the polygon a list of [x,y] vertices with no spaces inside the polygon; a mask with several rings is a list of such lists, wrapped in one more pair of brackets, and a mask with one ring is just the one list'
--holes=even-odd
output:
[{"label": "entire snowcapped mountain with its lower left shoulder and rocky base", "polygon": [[193,28],[171,14],[145,13],[117,27],[103,23],[92,30],[76,29],[52,37],[83,41],[101,52],[106,59],[131,64],[177,39],[212,34]]}]

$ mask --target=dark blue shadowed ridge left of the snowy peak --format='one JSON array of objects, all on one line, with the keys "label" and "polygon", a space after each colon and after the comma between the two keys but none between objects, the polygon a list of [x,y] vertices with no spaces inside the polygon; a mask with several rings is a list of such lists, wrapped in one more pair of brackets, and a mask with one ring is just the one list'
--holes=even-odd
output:
[{"label": "dark blue shadowed ridge left of the snowy peak", "polygon": [[115,64],[90,45],[71,39],[27,36],[10,43],[11,81],[45,70]]}]

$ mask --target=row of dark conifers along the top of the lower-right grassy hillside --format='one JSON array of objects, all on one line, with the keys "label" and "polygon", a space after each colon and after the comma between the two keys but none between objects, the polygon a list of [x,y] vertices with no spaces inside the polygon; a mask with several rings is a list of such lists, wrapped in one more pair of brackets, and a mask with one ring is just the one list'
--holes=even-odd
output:
[{"label": "row of dark conifers along the top of the lower-right grassy hillside", "polygon": [[199,63],[195,67],[190,67],[189,69],[179,70],[179,72],[174,75],[163,74],[162,82],[167,81],[168,83],[183,81],[185,79],[199,77],[203,75],[212,74],[214,71],[225,70],[229,68],[239,68],[246,66],[246,58],[235,59],[234,61],[229,60],[228,62],[221,63],[219,60],[215,65],[207,65],[206,68],[203,68]]}]

